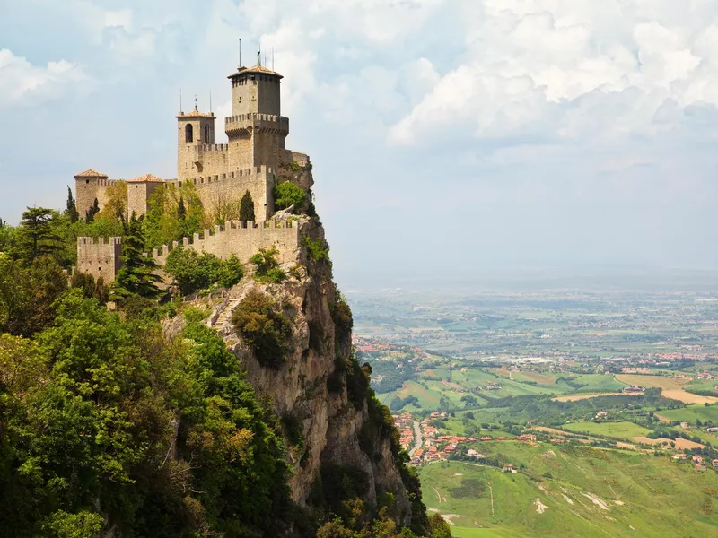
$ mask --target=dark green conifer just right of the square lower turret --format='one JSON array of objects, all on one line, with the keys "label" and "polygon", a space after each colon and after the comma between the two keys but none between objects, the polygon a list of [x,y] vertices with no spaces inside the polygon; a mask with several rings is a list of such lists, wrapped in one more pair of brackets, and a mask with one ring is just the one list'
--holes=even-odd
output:
[{"label": "dark green conifer just right of the square lower turret", "polygon": [[144,256],[144,234],[141,221],[135,213],[125,224],[122,238],[122,267],[112,284],[110,299],[127,299],[132,294],[154,298],[162,294],[157,287],[162,278],[156,273],[158,266],[153,258]]}]

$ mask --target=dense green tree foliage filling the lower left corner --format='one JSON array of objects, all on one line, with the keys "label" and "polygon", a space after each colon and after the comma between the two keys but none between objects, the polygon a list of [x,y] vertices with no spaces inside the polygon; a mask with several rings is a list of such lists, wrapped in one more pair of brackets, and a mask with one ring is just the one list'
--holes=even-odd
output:
[{"label": "dense green tree foliage filling the lower left corner", "polygon": [[183,336],[167,342],[159,324],[123,321],[77,289],[34,340],[0,337],[0,495],[12,499],[0,535],[274,536],[287,525],[274,421],[214,332],[190,322]]}]

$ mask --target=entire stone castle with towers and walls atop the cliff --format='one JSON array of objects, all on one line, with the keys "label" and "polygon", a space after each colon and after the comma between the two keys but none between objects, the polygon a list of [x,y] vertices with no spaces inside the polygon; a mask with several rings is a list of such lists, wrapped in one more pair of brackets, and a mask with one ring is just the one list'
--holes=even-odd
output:
[{"label": "entire stone castle with towers and walls atop the cliff", "polygon": [[[232,254],[247,261],[259,247],[277,247],[281,261],[296,257],[300,238],[296,223],[270,221],[275,213],[273,189],[289,180],[293,169],[309,169],[309,157],[285,149],[289,118],[281,116],[282,75],[263,65],[239,67],[228,77],[232,83],[232,116],[224,121],[228,143],[215,143],[215,114],[201,112],[197,103],[177,118],[177,178],[161,179],[144,174],[127,181],[127,216],[147,213],[147,204],[158,189],[194,184],[207,215],[216,214],[222,204],[237,201],[250,192],[257,222],[226,221],[214,230],[204,230],[182,244],[220,257]],[[119,179],[109,179],[94,169],[74,177],[75,203],[81,216],[109,199],[109,188]],[[311,174],[300,185],[311,187]],[[153,256],[162,265],[171,247],[156,249]],[[78,238],[77,268],[105,282],[118,272],[121,239]]]}]

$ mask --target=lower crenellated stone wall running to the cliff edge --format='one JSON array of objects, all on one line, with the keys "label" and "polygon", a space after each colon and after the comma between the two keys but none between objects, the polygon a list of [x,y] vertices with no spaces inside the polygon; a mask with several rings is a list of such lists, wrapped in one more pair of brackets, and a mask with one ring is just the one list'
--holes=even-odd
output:
[{"label": "lower crenellated stone wall running to the cliff edge", "polygon": [[[223,260],[233,254],[242,264],[248,263],[259,248],[276,247],[279,263],[292,263],[300,259],[299,224],[296,221],[260,221],[256,225],[253,222],[227,221],[223,226],[215,226],[212,231],[205,230],[201,236],[196,233],[191,239],[184,238],[182,245],[199,253],[214,254]],[[158,265],[164,265],[171,250],[178,246],[175,241],[172,246],[154,249],[151,255]]]}]

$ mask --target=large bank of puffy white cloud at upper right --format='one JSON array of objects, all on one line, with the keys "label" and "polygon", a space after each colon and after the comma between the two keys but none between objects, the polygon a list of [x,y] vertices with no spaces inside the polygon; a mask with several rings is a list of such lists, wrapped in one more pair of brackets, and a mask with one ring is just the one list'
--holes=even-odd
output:
[{"label": "large bank of puffy white cloud at upper right", "polygon": [[467,126],[479,139],[537,130],[549,139],[599,129],[606,139],[651,135],[666,100],[718,104],[718,9],[710,4],[694,8],[703,17],[681,21],[670,4],[606,0],[600,9],[612,28],[585,0],[471,4],[460,64],[400,118],[390,142],[435,143]]}]

